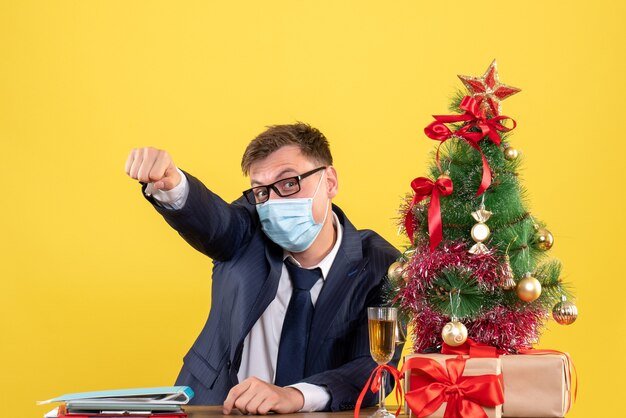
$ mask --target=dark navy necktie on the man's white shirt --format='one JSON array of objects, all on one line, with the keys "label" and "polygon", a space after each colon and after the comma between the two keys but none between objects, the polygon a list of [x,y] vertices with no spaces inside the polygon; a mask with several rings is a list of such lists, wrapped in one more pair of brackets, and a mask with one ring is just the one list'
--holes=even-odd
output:
[{"label": "dark navy necktie on the man's white shirt", "polygon": [[309,329],[315,309],[311,302],[310,290],[322,277],[319,268],[303,269],[289,260],[285,260],[285,265],[293,285],[293,293],[280,334],[276,379],[274,379],[274,384],[277,386],[287,386],[304,378]]}]

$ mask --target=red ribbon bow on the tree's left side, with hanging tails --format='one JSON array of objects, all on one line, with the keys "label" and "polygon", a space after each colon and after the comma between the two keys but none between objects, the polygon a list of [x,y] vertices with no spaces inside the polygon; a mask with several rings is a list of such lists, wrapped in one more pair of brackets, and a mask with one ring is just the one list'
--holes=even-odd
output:
[{"label": "red ribbon bow on the tree's left side, with hanging tails", "polygon": [[452,194],[452,180],[448,176],[440,176],[433,182],[426,177],[418,177],[411,182],[411,188],[415,191],[415,195],[413,195],[413,200],[411,200],[404,218],[404,227],[411,242],[413,242],[413,233],[415,232],[413,207],[418,202],[430,197],[430,204],[428,205],[428,234],[430,235],[430,251],[434,251],[443,237],[439,196]]}]

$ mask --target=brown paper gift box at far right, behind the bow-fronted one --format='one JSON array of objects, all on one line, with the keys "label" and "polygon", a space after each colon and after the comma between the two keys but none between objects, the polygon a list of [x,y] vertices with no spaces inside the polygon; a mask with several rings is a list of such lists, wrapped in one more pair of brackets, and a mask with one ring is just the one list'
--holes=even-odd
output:
[{"label": "brown paper gift box at far right, behind the bow-fronted one", "polygon": [[564,417],[571,407],[571,374],[565,354],[500,356],[504,417]]}]

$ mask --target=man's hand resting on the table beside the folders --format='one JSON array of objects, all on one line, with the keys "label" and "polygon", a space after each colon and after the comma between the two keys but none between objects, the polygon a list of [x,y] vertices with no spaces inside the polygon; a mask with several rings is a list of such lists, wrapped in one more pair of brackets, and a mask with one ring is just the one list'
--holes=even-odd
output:
[{"label": "man's hand resting on the table beside the folders", "polygon": [[223,412],[228,415],[233,408],[237,408],[244,414],[290,414],[298,412],[303,406],[304,396],[298,389],[283,388],[249,377],[228,392]]}]

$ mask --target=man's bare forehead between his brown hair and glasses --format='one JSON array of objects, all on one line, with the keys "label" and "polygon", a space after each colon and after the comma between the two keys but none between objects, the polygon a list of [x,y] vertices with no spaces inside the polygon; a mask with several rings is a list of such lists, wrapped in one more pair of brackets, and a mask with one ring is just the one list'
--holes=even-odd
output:
[{"label": "man's bare forehead between his brown hair and glasses", "polygon": [[315,163],[304,156],[298,146],[287,145],[250,165],[250,183],[252,185],[273,183],[314,168]]}]

